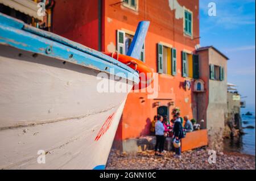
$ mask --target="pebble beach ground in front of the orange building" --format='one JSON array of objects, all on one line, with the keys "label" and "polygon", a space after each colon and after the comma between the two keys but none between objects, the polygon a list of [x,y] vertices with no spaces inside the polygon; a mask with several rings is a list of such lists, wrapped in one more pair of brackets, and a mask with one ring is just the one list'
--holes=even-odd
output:
[{"label": "pebble beach ground in front of the orange building", "polygon": [[163,157],[156,156],[153,150],[137,154],[119,153],[112,150],[107,170],[255,170],[255,156],[235,152],[216,154],[216,163],[208,162],[207,149],[195,149],[182,153],[175,158],[172,151],[166,151]]}]

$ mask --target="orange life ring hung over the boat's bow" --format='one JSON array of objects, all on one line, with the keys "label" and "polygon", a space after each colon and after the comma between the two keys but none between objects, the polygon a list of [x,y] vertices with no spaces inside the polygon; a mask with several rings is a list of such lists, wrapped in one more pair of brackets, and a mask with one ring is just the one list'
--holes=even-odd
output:
[{"label": "orange life ring hung over the boat's bow", "polygon": [[133,89],[143,89],[147,86],[149,86],[154,81],[154,72],[150,68],[150,66],[146,65],[141,60],[138,60],[136,58],[127,56],[125,54],[119,54],[118,52],[102,52],[115,60],[118,60],[119,62],[122,62],[123,64],[129,66],[130,68],[134,69],[135,71],[138,71],[139,73],[139,85],[135,86]]}]

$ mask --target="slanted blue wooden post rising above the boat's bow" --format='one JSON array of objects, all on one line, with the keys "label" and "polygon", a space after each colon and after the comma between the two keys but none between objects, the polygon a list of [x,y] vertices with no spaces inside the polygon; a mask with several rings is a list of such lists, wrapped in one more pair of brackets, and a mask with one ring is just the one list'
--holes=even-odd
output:
[{"label": "slanted blue wooden post rising above the boat's bow", "polygon": [[147,30],[150,22],[139,22],[133,41],[131,42],[130,48],[127,52],[127,56],[131,56],[139,59],[141,57],[141,50],[146,39]]}]

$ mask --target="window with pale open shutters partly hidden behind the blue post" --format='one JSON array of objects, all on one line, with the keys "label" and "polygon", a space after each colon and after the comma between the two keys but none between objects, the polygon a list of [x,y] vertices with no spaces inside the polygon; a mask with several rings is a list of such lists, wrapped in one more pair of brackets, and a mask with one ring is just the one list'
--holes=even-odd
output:
[{"label": "window with pale open shutters partly hidden behind the blue post", "polygon": [[[117,51],[121,54],[126,54],[130,48],[131,41],[133,41],[133,35],[125,33],[125,31],[117,31]],[[141,56],[139,60],[145,62],[145,45],[143,44],[141,50]]]}]

